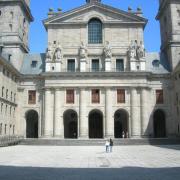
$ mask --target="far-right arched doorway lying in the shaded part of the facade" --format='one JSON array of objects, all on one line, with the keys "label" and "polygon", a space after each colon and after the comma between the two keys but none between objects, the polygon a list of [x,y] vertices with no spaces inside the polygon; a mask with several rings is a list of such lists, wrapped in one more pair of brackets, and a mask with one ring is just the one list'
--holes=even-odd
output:
[{"label": "far-right arched doorway lying in the shaded part of the facade", "polygon": [[158,109],[154,112],[153,116],[153,125],[154,125],[154,137],[155,138],[164,138],[166,137],[166,118],[164,111]]}]

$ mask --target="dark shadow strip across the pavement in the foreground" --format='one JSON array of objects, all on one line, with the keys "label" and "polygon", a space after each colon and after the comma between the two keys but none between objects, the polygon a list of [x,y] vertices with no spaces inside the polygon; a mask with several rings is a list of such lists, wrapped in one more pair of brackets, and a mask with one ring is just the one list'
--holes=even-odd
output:
[{"label": "dark shadow strip across the pavement in the foreground", "polygon": [[111,169],[0,166],[0,180],[178,180],[180,167]]}]

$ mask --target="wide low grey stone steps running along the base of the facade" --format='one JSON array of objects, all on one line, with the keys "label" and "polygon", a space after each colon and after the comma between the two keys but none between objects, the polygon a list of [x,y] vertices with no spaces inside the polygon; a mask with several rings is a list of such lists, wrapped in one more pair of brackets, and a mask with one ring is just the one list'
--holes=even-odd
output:
[{"label": "wide low grey stone steps running along the base of the facade", "polygon": [[[177,145],[180,144],[179,138],[166,139],[114,139],[115,146],[121,145]],[[20,145],[35,146],[103,146],[105,139],[24,139]]]}]

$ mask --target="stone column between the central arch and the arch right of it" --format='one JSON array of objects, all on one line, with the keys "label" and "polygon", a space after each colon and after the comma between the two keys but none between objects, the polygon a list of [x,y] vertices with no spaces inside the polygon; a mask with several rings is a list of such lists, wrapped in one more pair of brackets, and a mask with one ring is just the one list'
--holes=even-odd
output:
[{"label": "stone column between the central arch and the arch right of it", "polygon": [[105,98],[105,137],[113,138],[114,137],[114,121],[112,119],[112,95],[111,89],[106,89],[106,98]]}]

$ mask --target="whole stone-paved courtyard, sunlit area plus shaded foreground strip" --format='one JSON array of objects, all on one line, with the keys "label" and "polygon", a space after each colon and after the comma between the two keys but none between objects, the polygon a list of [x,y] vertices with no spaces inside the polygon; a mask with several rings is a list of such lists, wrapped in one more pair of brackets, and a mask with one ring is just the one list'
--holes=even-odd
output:
[{"label": "whole stone-paved courtyard, sunlit area plus shaded foreground strip", "polygon": [[180,145],[0,148],[0,180],[179,180]]}]

